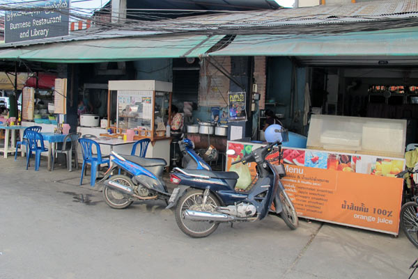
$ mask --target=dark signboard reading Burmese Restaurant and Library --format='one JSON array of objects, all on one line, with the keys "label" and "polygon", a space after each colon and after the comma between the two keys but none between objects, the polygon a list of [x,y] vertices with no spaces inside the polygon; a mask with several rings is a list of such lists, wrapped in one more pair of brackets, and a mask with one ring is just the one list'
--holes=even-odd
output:
[{"label": "dark signboard reading Burmese Restaurant and Library", "polygon": [[5,42],[24,42],[68,35],[70,0],[49,0],[6,11]]}]

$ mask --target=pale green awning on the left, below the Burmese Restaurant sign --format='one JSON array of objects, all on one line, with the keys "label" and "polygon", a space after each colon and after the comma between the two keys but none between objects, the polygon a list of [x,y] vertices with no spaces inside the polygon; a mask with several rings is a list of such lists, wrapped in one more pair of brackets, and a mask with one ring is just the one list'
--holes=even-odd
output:
[{"label": "pale green awning on the left, below the Burmese Restaurant sign", "polygon": [[199,57],[224,35],[170,35],[53,42],[15,49],[0,49],[0,59],[51,62],[101,63],[143,58]]}]

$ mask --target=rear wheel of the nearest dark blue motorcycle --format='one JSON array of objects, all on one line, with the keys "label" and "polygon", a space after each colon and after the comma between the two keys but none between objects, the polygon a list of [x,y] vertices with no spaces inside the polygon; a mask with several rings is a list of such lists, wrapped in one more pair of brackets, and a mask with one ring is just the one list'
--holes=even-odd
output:
[{"label": "rear wheel of the nearest dark blue motorcycle", "polygon": [[207,237],[212,232],[215,232],[219,225],[219,223],[215,223],[214,221],[192,221],[185,219],[186,209],[210,212],[220,205],[219,200],[212,193],[210,193],[206,199],[204,207],[202,203],[203,191],[200,190],[187,191],[187,193],[178,201],[174,216],[176,216],[178,228],[189,237]]}]

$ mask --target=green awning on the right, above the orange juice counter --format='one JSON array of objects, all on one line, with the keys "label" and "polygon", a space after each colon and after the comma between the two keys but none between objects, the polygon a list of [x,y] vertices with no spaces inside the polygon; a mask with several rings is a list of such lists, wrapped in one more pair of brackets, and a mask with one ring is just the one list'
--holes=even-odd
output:
[{"label": "green awning on the right, above the orange juice counter", "polygon": [[209,56],[416,56],[418,28],[343,35],[238,35]]}]

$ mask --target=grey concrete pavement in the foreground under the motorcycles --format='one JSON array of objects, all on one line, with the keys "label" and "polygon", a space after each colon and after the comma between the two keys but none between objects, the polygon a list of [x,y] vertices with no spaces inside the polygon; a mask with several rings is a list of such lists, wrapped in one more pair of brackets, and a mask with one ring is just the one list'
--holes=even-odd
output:
[{"label": "grey concrete pavement in the foreground under the motorcycles", "polygon": [[[401,234],[275,216],[180,232],[164,202],[109,208],[89,172],[25,170],[0,159],[0,278],[408,278],[418,250]],[[32,164],[33,165],[33,164]],[[412,278],[418,278],[418,273]]]}]

